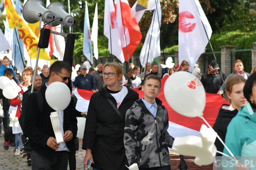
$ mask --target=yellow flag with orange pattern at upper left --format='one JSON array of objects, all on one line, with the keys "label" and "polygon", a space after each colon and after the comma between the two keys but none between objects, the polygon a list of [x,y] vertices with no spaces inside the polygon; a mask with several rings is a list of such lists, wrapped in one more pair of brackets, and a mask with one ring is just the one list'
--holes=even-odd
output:
[{"label": "yellow flag with orange pattern at upper left", "polygon": [[[28,54],[31,59],[37,58],[38,41],[39,38],[32,32],[32,30],[27,26],[27,24],[22,20],[20,15],[14,9],[11,0],[4,0],[6,15],[10,28],[17,27],[20,37],[28,50]],[[51,60],[45,49],[40,49],[40,59]]]}]

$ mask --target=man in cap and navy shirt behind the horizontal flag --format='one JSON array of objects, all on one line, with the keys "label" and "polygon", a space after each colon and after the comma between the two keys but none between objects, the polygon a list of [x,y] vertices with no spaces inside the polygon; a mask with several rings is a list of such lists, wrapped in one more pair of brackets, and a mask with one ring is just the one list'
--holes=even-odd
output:
[{"label": "man in cap and navy shirt behind the horizontal flag", "polygon": [[[94,81],[94,78],[92,75],[87,74],[87,67],[85,65],[82,65],[81,68],[81,74],[78,75],[75,78],[75,81],[73,83],[74,88],[84,89],[84,90],[93,90],[93,92],[96,92],[96,84]],[[73,90],[74,90],[73,88]]]}]

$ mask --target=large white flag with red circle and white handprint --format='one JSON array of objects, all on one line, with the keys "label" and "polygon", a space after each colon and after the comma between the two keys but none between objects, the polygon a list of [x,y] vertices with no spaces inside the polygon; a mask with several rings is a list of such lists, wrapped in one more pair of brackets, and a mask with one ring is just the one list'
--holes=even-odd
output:
[{"label": "large white flag with red circle and white handprint", "polygon": [[[203,23],[203,24],[202,24]],[[207,34],[204,31],[207,32]],[[190,63],[192,71],[199,56],[205,52],[212,29],[198,0],[180,0],[179,7],[179,64]]]}]

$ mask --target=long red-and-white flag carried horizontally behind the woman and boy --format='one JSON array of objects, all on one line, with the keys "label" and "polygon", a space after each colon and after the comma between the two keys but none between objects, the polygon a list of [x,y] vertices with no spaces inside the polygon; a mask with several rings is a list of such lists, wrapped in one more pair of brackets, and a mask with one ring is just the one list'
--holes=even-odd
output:
[{"label": "long red-and-white flag carried horizontally behind the woman and boy", "polygon": [[[162,101],[162,105],[165,106],[168,110],[169,134],[172,135],[174,138],[187,135],[199,136],[199,130],[201,128],[201,125],[205,124],[204,121],[199,117],[191,118],[182,116],[176,113],[167,103],[163,92],[164,83],[167,78],[168,76],[161,79],[162,92],[157,97]],[[140,98],[144,97],[144,92],[142,90],[138,90],[137,88],[133,90],[138,92]],[[91,95],[93,95],[93,92],[90,90],[75,89],[73,93],[78,99],[76,109],[80,112],[87,111],[89,100]],[[203,111],[203,117],[211,126],[213,126],[213,124],[215,123],[215,120],[219,112],[219,108],[222,106],[222,104],[230,103],[219,95],[206,93],[206,105]],[[186,106],[184,105],[184,107]]]}]

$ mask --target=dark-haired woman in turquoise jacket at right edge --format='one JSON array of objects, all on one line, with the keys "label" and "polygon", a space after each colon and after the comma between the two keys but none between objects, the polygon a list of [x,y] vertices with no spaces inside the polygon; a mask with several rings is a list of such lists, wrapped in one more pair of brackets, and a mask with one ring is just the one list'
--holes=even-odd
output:
[{"label": "dark-haired woman in turquoise jacket at right edge", "polygon": [[[225,144],[234,156],[256,156],[256,73],[245,82],[243,93],[248,103],[229,123]],[[230,155],[226,148],[223,152]]]}]

